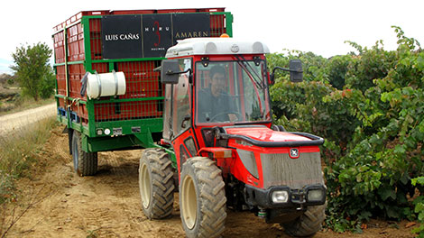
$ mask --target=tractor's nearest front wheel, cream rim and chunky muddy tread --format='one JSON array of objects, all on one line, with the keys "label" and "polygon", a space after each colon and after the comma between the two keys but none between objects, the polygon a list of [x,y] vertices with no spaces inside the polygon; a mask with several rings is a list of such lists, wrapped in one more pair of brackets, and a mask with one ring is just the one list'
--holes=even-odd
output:
[{"label": "tractor's nearest front wheel, cream rim and chunky muddy tread", "polygon": [[221,170],[204,157],[181,169],[180,215],[187,237],[219,237],[226,222],[226,192]]}]

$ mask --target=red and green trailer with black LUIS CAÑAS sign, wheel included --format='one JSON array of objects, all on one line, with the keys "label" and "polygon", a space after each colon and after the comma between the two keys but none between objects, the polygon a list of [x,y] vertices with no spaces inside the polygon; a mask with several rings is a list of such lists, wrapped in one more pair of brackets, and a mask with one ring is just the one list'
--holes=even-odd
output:
[{"label": "red and green trailer with black LUIS CA\u00d1AS sign, wheel included", "polygon": [[78,174],[96,173],[97,151],[161,147],[164,87],[154,69],[177,41],[232,36],[232,23],[225,8],[201,8],[83,11],[55,26],[57,118]]}]

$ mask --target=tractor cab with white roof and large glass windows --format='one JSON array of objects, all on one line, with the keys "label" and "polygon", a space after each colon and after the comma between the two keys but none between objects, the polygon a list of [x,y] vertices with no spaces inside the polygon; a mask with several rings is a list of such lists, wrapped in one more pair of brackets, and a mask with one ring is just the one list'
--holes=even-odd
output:
[{"label": "tractor cab with white roof and large glass windows", "polygon": [[[261,42],[229,40],[189,39],[168,50],[166,57],[176,59],[162,62],[162,80],[173,78],[165,90],[165,139],[190,127],[202,138],[205,128],[271,124],[264,57],[269,50]],[[201,147],[211,146],[200,141]]]}]

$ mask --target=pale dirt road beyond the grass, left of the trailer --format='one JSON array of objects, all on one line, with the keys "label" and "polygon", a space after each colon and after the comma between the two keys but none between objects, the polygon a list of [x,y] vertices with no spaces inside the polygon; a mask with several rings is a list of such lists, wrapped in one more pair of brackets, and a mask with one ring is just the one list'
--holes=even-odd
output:
[{"label": "pale dirt road beyond the grass, left of the trailer", "polygon": [[19,131],[43,118],[56,114],[56,103],[0,116],[0,134]]}]

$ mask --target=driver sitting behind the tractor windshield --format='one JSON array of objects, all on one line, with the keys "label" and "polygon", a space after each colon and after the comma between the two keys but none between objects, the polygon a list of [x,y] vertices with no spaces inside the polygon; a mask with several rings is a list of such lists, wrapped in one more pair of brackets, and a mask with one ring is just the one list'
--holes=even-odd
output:
[{"label": "driver sitting behind the tractor windshield", "polygon": [[199,122],[235,122],[235,105],[226,93],[226,69],[214,66],[209,72],[209,87],[198,93]]}]

